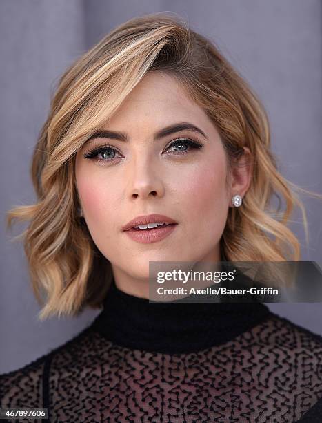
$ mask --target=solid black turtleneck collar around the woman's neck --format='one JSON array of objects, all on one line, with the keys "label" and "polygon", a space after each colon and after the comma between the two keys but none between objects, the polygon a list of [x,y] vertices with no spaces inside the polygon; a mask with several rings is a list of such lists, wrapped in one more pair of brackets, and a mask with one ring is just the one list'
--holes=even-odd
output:
[{"label": "solid black turtleneck collar around the woman's neck", "polygon": [[153,302],[119,290],[113,279],[93,328],[120,346],[191,353],[230,341],[269,314],[263,303]]}]

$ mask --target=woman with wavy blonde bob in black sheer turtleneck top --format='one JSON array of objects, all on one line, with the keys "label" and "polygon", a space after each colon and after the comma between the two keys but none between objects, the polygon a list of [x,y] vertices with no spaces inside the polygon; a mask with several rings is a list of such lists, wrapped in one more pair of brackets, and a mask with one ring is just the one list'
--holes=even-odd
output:
[{"label": "woman with wavy blonde bob in black sheer turtleneck top", "polygon": [[8,223],[30,220],[40,319],[103,310],[1,375],[2,407],[50,422],[322,421],[319,335],[263,303],[149,301],[151,261],[300,259],[287,223],[298,205],[306,228],[305,210],[263,106],[208,39],[164,14],[112,30],[61,78],[32,178],[37,204]]}]

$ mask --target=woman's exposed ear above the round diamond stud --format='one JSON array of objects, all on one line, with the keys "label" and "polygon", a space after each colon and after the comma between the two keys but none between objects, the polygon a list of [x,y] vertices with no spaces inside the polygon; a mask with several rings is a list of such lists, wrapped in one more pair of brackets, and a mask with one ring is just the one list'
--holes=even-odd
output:
[{"label": "woman's exposed ear above the round diamond stud", "polygon": [[[250,187],[252,178],[252,154],[248,147],[243,147],[243,154],[234,162],[230,174],[230,199],[239,194],[243,198]],[[232,206],[231,200],[230,204]]]}]

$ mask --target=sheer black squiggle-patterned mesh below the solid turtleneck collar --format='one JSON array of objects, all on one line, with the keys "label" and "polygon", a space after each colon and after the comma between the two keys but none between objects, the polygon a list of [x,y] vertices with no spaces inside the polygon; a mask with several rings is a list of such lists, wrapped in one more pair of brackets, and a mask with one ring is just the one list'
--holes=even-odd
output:
[{"label": "sheer black squiggle-patterned mesh below the solid turtleneck collar", "polygon": [[224,344],[168,355],[90,327],[0,381],[2,407],[48,395],[50,422],[321,423],[322,338],[271,313]]}]

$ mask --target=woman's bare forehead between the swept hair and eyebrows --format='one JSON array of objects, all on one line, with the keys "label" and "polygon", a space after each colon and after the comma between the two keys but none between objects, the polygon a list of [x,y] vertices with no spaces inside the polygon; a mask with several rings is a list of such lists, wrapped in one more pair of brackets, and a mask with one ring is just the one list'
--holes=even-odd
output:
[{"label": "woman's bare forehead between the swept hair and eyebrows", "polygon": [[206,131],[212,126],[203,109],[190,99],[178,79],[154,71],[141,79],[106,126],[129,131],[143,126],[156,129],[181,121],[203,126]]}]

